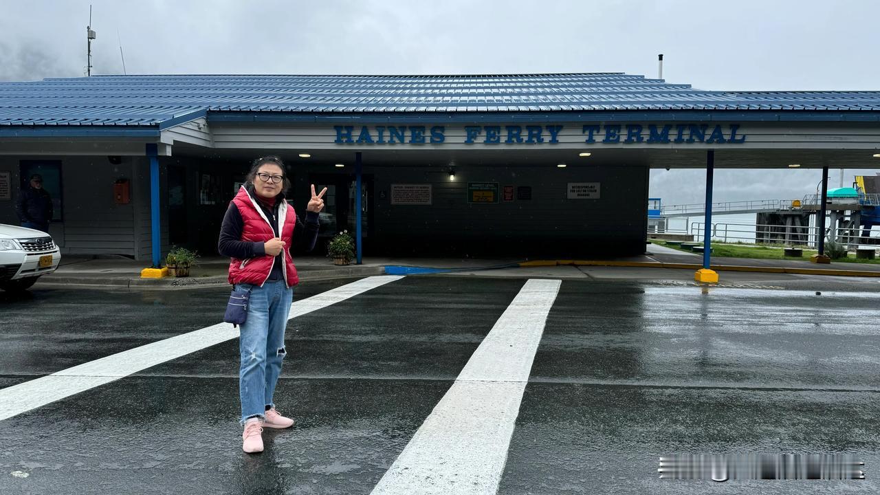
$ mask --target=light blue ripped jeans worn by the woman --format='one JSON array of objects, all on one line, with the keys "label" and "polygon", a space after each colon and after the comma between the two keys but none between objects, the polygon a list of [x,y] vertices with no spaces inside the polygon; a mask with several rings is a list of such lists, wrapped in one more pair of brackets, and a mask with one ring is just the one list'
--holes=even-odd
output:
[{"label": "light blue ripped jeans worn by the woman", "polygon": [[283,280],[260,285],[237,284],[252,287],[247,320],[241,326],[238,339],[241,366],[238,370],[238,392],[241,397],[241,423],[251,417],[265,418],[266,411],[275,407],[272,396],[281,374],[281,365],[287,350],[284,348],[284,329],[293,301],[293,288]]}]

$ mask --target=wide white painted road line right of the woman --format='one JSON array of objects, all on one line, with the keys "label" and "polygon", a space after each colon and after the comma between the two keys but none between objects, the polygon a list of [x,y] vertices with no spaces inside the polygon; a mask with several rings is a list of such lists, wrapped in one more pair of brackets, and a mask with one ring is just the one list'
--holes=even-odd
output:
[{"label": "wide white painted road line right of the woman", "polygon": [[526,282],[374,495],[495,495],[560,280]]}]

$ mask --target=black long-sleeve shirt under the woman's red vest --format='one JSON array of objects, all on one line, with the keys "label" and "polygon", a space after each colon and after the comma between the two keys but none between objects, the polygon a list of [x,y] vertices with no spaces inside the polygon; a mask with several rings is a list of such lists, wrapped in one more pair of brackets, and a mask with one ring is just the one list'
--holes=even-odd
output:
[{"label": "black long-sleeve shirt under the woman's red vest", "polygon": [[[281,201],[282,199],[278,198],[275,205],[272,207],[261,201],[257,201],[257,203],[260,204],[260,208],[263,210],[266,218],[278,218],[278,205]],[[275,220],[271,223],[272,230],[275,231],[275,237],[281,237],[278,232],[278,221]],[[299,248],[304,248],[305,252],[312,251],[315,247],[315,242],[318,240],[319,225],[319,214],[317,212],[306,211],[305,222],[303,222],[302,217],[297,215],[297,226],[293,231],[293,245],[290,246],[291,250],[294,248],[297,248],[297,250]],[[265,256],[265,243],[241,240],[241,233],[244,231],[244,228],[245,220],[241,217],[241,212],[238,211],[238,206],[236,206],[235,203],[230,203],[229,209],[226,210],[226,215],[223,218],[223,226],[220,228],[220,239],[217,242],[217,251],[219,251],[221,255],[238,258],[240,260]],[[283,253],[275,256],[275,263],[272,264],[272,272],[269,274],[268,280],[282,280],[283,264]]]}]

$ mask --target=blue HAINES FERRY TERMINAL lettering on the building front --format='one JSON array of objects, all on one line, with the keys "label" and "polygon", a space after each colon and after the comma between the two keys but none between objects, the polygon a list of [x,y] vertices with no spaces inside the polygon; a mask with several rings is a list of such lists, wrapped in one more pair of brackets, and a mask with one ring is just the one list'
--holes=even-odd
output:
[{"label": "blue HAINES FERRY TERMINAL lettering on the building front", "polygon": [[[583,124],[585,144],[743,144],[738,123]],[[558,144],[563,125],[469,125],[447,140],[446,126],[334,126],[336,144]],[[461,129],[461,128],[458,128]],[[570,132],[570,130],[569,130]]]}]

